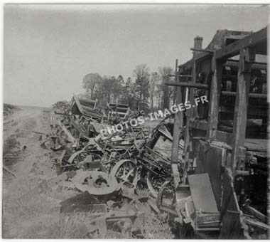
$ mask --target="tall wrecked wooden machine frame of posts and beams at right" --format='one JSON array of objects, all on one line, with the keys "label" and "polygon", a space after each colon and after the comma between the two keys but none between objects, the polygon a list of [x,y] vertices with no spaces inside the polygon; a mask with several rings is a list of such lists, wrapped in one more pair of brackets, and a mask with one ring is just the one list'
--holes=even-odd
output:
[{"label": "tall wrecked wooden machine frame of posts and beams at right", "polygon": [[[267,27],[256,33],[244,33],[244,38],[232,41],[220,48],[202,49],[198,47],[196,41],[200,41],[200,37],[195,38],[193,51],[193,59],[183,65],[175,65],[175,82],[168,82],[167,85],[175,86],[176,102],[182,103],[190,100],[195,105],[195,88],[199,90],[207,90],[209,97],[209,109],[206,120],[198,120],[197,108],[186,110],[185,127],[183,112],[177,112],[174,117],[173,125],[173,147],[171,154],[171,169],[173,174],[173,183],[175,186],[176,201],[181,203],[178,190],[181,187],[188,186],[188,174],[192,167],[197,166],[195,173],[209,174],[212,184],[213,193],[220,211],[220,226],[218,228],[219,238],[252,238],[249,233],[251,221],[248,222],[243,216],[242,207],[237,201],[237,192],[234,188],[234,182],[239,177],[247,177],[250,171],[245,168],[247,157],[252,156],[252,152],[245,147],[245,135],[247,128],[247,114],[249,108],[249,87],[251,81],[252,65],[256,64],[256,55],[267,56]],[[234,56],[239,55],[237,88],[235,93],[234,116],[233,116],[233,132],[232,134],[218,130],[218,117],[220,107],[220,93],[222,85],[222,66]],[[209,83],[198,83],[198,72],[196,68],[198,63],[210,63],[210,72],[212,73]],[[260,95],[260,94],[259,94]],[[267,103],[269,107],[269,102]],[[268,110],[267,110],[268,111]],[[268,112],[269,115],[269,112]],[[192,130],[204,131],[204,137],[194,137],[190,135]],[[185,145],[183,148],[183,159],[185,162],[183,178],[179,177],[178,162],[178,144],[180,140],[180,130],[183,130],[183,138]],[[199,132],[200,133],[200,132]],[[203,149],[203,152],[202,152]],[[211,149],[210,152],[208,150]],[[207,153],[208,152],[208,153]],[[212,153],[211,153],[212,152]],[[260,150],[260,152],[266,152]],[[210,154],[211,153],[211,154]],[[269,158],[269,156],[268,156]],[[198,164],[194,164],[194,161]],[[238,198],[239,199],[239,198]],[[178,209],[179,210],[179,209]],[[181,209],[180,209],[181,210]],[[181,224],[183,220],[194,220],[188,213],[187,206],[185,209],[178,211]],[[258,211],[254,211],[257,217],[265,217]],[[254,222],[254,221],[253,221]],[[258,226],[254,222],[252,226]],[[262,226],[264,227],[264,226]],[[261,227],[260,227],[261,228]],[[261,228],[258,233],[267,233],[269,228]],[[211,229],[195,228],[195,232],[200,234],[202,238]],[[204,234],[204,235],[202,235]],[[257,237],[256,237],[257,238]]]}]

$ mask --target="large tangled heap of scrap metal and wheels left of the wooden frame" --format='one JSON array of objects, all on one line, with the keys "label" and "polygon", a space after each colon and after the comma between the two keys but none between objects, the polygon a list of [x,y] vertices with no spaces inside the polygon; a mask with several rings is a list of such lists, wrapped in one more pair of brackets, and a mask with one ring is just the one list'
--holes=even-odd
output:
[{"label": "large tangled heap of scrap metal and wheels left of the wooden frame", "polygon": [[[100,128],[137,118],[142,112],[132,112],[121,104],[100,109],[96,100],[75,95],[63,108],[65,112],[59,112],[56,106],[50,134],[40,135],[41,146],[52,154],[59,179],[41,181],[39,191],[60,186],[75,191],[75,196],[60,202],[60,214],[66,214],[63,221],[67,223],[80,220],[82,233],[90,238],[108,229],[129,231],[134,238],[142,238],[144,216],[161,213],[156,206],[158,190],[171,179],[170,159],[154,150],[159,137],[173,140],[167,128],[168,117],[153,130],[124,125],[121,132],[102,136]],[[183,162],[178,163],[181,167]],[[151,196],[136,195],[138,184]],[[76,219],[78,216],[85,219]]]}]

